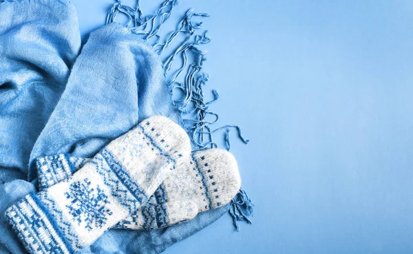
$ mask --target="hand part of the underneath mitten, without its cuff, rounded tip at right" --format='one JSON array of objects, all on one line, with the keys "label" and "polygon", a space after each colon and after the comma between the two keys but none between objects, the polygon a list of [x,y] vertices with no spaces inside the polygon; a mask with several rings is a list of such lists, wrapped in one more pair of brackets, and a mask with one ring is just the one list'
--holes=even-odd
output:
[{"label": "hand part of the underneath mitten, without its cuff, rounded tip at right", "polygon": [[[70,158],[71,161],[78,159],[80,158]],[[239,173],[231,154],[222,149],[198,151],[191,155],[189,163],[182,165],[182,169],[173,171],[160,184],[144,207],[118,222],[114,228],[159,228],[183,219],[188,220],[193,213],[226,204],[239,188]],[[180,207],[176,205],[177,201],[181,202]],[[193,206],[197,208],[192,209]]]}]

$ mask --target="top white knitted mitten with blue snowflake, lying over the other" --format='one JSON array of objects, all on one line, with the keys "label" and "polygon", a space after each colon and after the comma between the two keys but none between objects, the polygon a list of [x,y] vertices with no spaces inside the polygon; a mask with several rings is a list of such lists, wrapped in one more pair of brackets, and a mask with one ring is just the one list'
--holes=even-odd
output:
[{"label": "top white knitted mitten with blue snowflake, lying over the other", "polygon": [[187,133],[155,116],[116,138],[74,173],[6,211],[30,253],[74,253],[131,216],[189,160]]}]

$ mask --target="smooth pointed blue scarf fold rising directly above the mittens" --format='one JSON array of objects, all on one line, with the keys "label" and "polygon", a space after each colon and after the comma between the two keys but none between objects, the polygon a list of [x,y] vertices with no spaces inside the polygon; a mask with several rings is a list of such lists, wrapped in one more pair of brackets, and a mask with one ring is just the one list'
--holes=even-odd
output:
[{"label": "smooth pointed blue scarf fold rising directly above the mittens", "polygon": [[158,56],[123,25],[105,25],[89,35],[76,59],[32,149],[29,180],[36,177],[34,159],[60,153],[94,156],[109,140],[155,115],[178,119]]}]

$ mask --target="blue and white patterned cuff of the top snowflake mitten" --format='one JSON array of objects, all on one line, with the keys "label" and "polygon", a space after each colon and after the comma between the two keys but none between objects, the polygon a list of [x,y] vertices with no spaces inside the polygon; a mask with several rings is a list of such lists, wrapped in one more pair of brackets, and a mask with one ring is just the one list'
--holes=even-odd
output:
[{"label": "blue and white patterned cuff of the top snowflake mitten", "polygon": [[10,207],[6,211],[6,218],[30,253],[74,253],[53,216],[36,194],[31,193]]}]

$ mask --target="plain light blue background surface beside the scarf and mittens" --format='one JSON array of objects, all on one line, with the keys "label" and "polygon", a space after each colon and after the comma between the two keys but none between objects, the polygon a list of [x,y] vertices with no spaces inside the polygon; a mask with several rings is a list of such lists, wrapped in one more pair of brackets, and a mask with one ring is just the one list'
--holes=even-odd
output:
[{"label": "plain light blue background surface beside the scarf and mittens", "polygon": [[[83,34],[113,3],[72,2]],[[211,109],[251,139],[234,133],[231,151],[255,216],[166,253],[413,253],[413,1],[183,0],[175,14],[191,6],[211,14]]]}]

